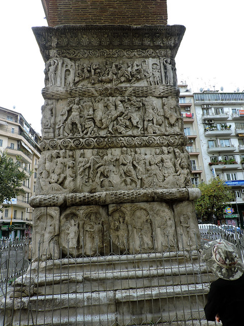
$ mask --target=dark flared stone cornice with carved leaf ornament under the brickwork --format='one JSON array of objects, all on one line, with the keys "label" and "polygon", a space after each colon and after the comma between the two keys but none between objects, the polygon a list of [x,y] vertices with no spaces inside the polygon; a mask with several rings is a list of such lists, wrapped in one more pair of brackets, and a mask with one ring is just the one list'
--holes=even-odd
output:
[{"label": "dark flared stone cornice with carved leaf ornament under the brickwork", "polygon": [[68,49],[168,49],[174,58],[185,26],[62,25],[34,27],[33,32],[44,61]]}]

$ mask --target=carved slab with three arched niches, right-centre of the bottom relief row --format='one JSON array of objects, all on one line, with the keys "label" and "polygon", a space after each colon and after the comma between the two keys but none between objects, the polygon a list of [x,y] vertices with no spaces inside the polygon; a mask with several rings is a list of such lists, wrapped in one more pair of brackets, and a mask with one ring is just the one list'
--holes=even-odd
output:
[{"label": "carved slab with three arched niches, right-centre of the bottom relief row", "polygon": [[177,248],[173,210],[166,203],[109,205],[109,224],[113,252]]}]

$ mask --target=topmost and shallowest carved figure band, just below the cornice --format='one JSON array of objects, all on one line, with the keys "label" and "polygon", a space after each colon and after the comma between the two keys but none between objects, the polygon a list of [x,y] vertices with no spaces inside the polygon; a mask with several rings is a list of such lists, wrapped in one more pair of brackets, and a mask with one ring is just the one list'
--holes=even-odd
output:
[{"label": "topmost and shallowest carved figure band, just below the cornice", "polygon": [[[45,66],[45,86],[177,86],[174,60],[150,59],[69,59],[53,58]],[[75,67],[75,69],[74,69]]]}]

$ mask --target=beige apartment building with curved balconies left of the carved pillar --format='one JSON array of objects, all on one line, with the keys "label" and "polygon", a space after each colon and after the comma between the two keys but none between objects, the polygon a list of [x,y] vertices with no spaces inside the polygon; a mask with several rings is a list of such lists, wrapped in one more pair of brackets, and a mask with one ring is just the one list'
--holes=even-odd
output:
[{"label": "beige apartment building with curved balconies left of the carved pillar", "polygon": [[[21,237],[32,235],[33,208],[29,206],[29,198],[35,194],[37,166],[41,150],[40,135],[31,124],[15,111],[0,107],[0,150],[6,151],[14,160],[18,158],[20,169],[32,172],[23,180],[23,192],[11,200],[11,205],[4,205],[0,213],[0,237]],[[13,225],[14,230],[9,230]]]}]

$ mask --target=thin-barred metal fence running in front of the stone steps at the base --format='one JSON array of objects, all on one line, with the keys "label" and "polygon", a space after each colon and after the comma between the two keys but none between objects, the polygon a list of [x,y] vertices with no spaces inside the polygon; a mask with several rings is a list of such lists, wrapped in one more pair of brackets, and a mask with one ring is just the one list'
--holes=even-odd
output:
[{"label": "thin-barred metal fence running in front of the stone steps at the base", "polygon": [[204,228],[200,233],[201,246],[192,250],[115,254],[104,248],[105,255],[71,257],[60,248],[61,259],[34,261],[28,241],[2,241],[0,324],[215,325],[204,319],[215,277],[201,260],[201,248],[229,237],[243,260],[242,233],[238,239]]}]

